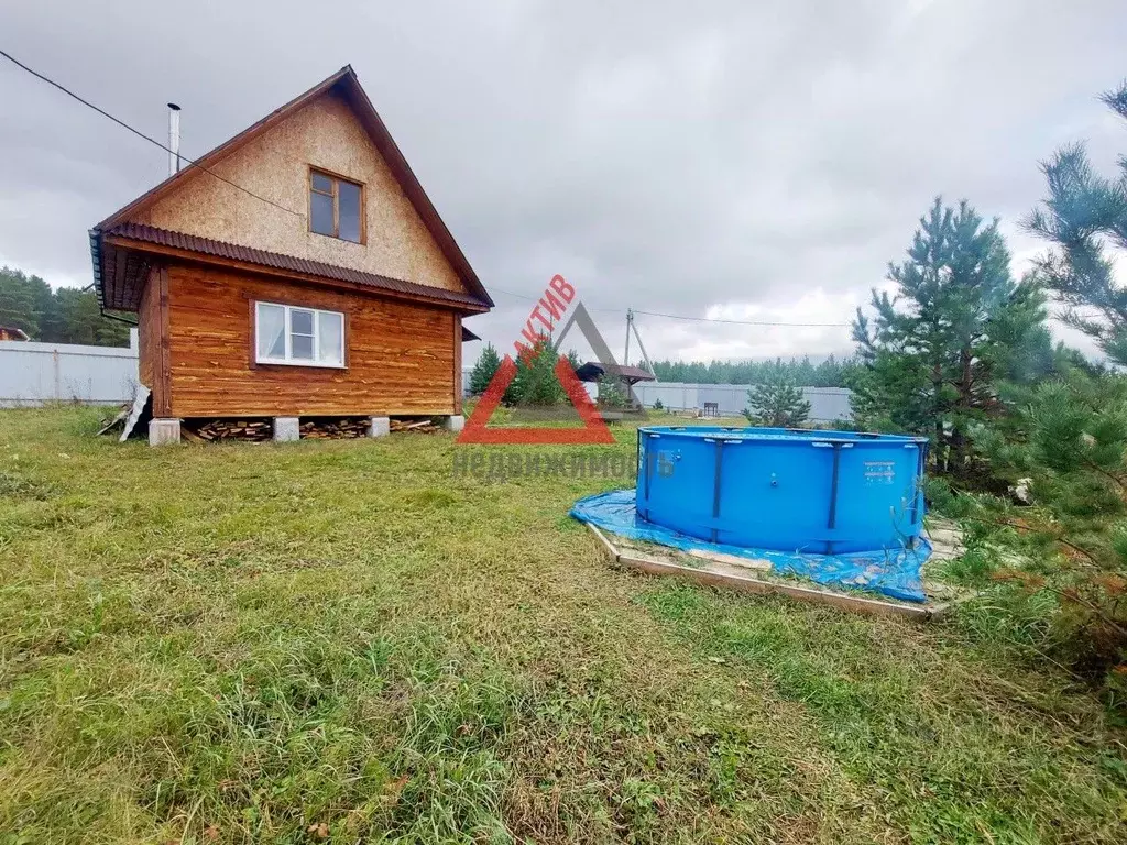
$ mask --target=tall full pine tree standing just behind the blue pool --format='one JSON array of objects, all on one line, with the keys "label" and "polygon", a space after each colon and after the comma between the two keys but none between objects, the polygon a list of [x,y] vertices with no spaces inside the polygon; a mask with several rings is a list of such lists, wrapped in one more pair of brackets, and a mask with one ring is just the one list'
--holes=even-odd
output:
[{"label": "tall full pine tree standing just behind the blue pool", "polygon": [[940,197],[888,278],[896,294],[873,291],[871,324],[861,309],[853,324],[864,362],[854,413],[930,435],[940,472],[969,472],[973,424],[1002,412],[1000,384],[1044,340],[1044,295],[1011,277],[997,220],[984,225],[966,201],[950,208]]}]

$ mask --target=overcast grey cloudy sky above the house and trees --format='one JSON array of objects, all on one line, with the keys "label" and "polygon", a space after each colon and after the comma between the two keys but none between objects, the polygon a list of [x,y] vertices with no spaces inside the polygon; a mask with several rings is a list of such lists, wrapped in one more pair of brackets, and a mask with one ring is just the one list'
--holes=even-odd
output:
[{"label": "overcast grey cloudy sky above the house and trees", "polygon": [[[189,10],[190,7],[190,10]],[[497,302],[508,347],[554,273],[623,311],[848,322],[935,194],[1018,219],[1037,161],[1127,128],[1127,3],[142,2],[0,6],[0,47],[199,155],[350,63]],[[90,282],[87,230],[167,154],[0,61],[0,264]],[[638,318],[655,357],[849,353],[846,328]],[[468,357],[476,355],[469,353]]]}]

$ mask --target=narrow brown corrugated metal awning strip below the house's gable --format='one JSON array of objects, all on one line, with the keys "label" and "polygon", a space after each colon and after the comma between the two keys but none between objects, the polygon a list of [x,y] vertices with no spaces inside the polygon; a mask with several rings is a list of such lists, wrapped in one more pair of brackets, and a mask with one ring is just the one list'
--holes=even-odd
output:
[{"label": "narrow brown corrugated metal awning strip below the house's gable", "polygon": [[[103,232],[101,234],[103,238],[109,239],[108,242],[110,244],[131,246],[137,251],[144,251],[143,244],[153,244],[157,247],[184,250],[186,252],[196,252],[201,256],[222,258],[229,261],[242,261],[245,264],[254,264],[260,267],[273,267],[277,270],[285,270],[305,276],[321,276],[323,278],[331,278],[337,282],[348,282],[350,284],[372,287],[379,291],[402,293],[410,296],[423,296],[428,300],[470,305],[474,309],[487,308],[487,304],[481,302],[481,300],[460,291],[446,291],[442,287],[434,287],[432,285],[420,285],[415,282],[405,282],[389,276],[379,276],[374,273],[362,273],[361,270],[354,270],[348,267],[338,267],[337,265],[310,261],[304,258],[281,255],[279,252],[267,252],[261,249],[240,247],[237,243],[225,243],[224,241],[199,238],[195,234],[184,234],[183,232],[172,232],[168,229],[157,229],[156,226],[142,225],[140,223],[123,223],[118,226],[114,226],[107,232]],[[128,241],[128,244],[123,243],[123,241]],[[107,291],[107,293],[109,292]],[[137,288],[137,294],[140,295],[140,288]],[[114,299],[114,296],[107,296],[107,300],[112,301]],[[112,304],[110,301],[105,303],[107,308],[127,308],[127,304]]]}]

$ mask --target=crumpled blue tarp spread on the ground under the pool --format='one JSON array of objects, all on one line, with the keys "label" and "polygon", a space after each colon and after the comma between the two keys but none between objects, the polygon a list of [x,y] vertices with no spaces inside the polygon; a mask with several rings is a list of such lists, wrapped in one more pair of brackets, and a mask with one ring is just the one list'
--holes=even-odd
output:
[{"label": "crumpled blue tarp spread on the ground under the pool", "polygon": [[926,540],[919,540],[914,549],[886,549],[876,552],[849,554],[802,554],[770,549],[747,549],[678,534],[638,517],[633,490],[612,490],[579,499],[571,508],[571,516],[592,523],[612,534],[668,545],[682,551],[700,549],[709,552],[734,554],[740,558],[767,560],[778,575],[795,575],[829,587],[855,587],[882,593],[907,602],[924,602],[920,568],[931,554]]}]

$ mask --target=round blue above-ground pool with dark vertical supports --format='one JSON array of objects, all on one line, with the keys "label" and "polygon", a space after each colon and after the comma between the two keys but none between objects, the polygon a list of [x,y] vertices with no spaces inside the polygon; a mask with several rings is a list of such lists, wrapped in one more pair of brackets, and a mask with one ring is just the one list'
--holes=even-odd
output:
[{"label": "round blue above-ground pool with dark vertical supports", "polygon": [[638,515],[711,543],[838,554],[912,548],[928,441],[790,428],[638,429]]}]

